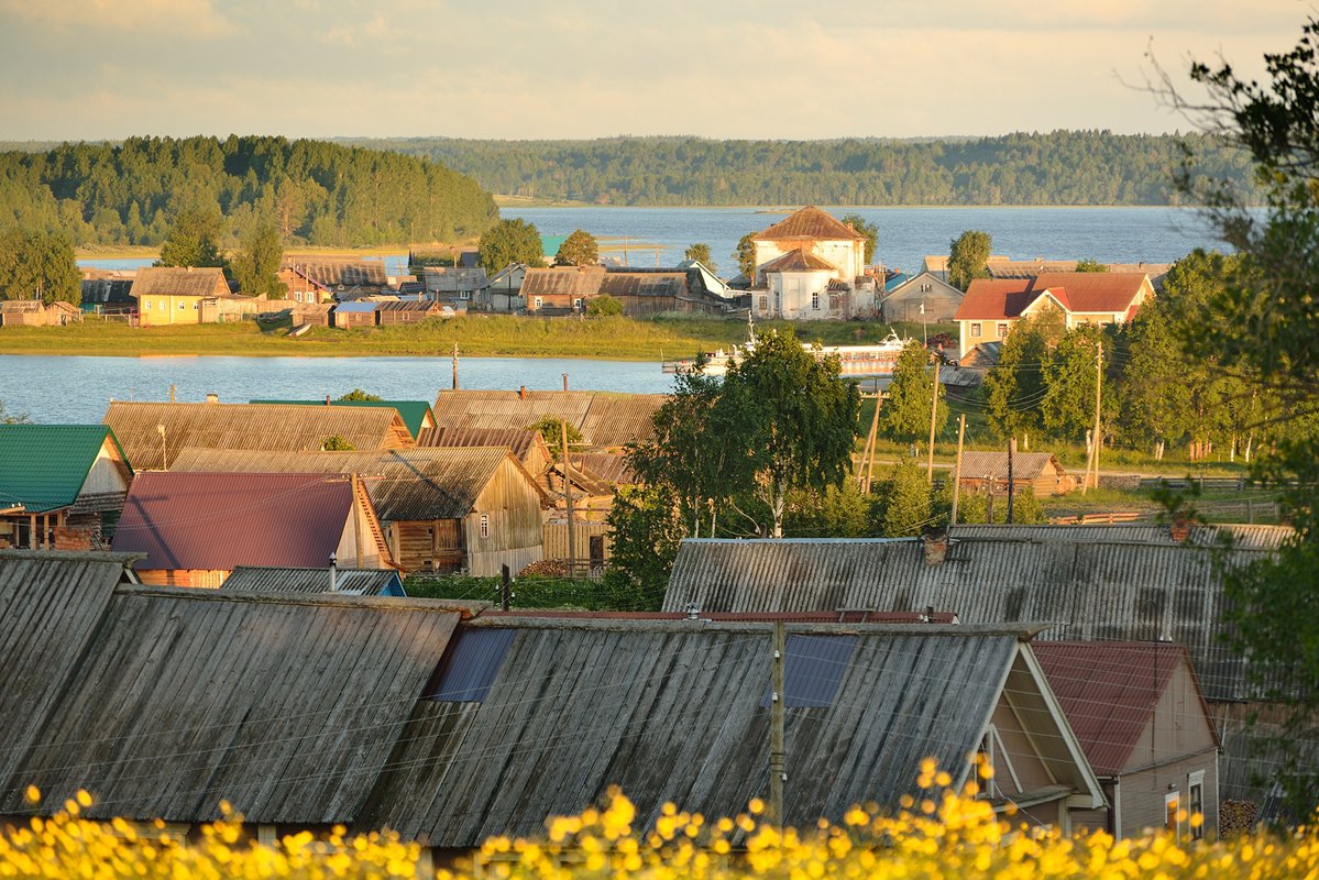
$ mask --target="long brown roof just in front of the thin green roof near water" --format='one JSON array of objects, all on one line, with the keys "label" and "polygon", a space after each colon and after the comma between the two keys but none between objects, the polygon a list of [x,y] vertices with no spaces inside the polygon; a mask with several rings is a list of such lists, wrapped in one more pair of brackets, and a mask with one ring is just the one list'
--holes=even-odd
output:
[{"label": "long brown roof just in front of the thin green roof near water", "polygon": [[[361,406],[112,402],[103,422],[113,429],[137,471],[173,467],[178,454],[193,446],[318,451],[331,437],[357,450],[414,445],[396,410]],[[162,446],[169,460],[162,458]]]}]

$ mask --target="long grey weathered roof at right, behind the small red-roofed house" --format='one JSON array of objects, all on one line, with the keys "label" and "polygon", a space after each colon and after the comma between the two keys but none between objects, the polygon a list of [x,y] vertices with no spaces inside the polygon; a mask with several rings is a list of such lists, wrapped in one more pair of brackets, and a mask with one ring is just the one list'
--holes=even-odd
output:
[{"label": "long grey weathered roof at right, behind the small red-roofed house", "polygon": [[[1241,534],[1215,550],[1223,534]],[[663,610],[914,611],[934,606],[966,623],[1046,620],[1064,640],[1171,639],[1186,645],[1210,699],[1249,694],[1245,665],[1223,637],[1215,557],[1240,566],[1290,534],[1278,526],[1198,528],[1184,544],[1166,528],[958,526],[946,559],[900,540],[683,541]],[[1270,545],[1272,541],[1272,545]]]}]

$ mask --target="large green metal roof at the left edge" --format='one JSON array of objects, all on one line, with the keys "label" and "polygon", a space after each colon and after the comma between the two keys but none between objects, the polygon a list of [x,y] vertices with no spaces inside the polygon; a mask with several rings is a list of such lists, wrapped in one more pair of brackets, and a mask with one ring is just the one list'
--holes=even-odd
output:
[{"label": "large green metal roof at the left edge", "polygon": [[0,425],[0,507],[21,504],[32,513],[69,507],[107,435],[119,446],[104,425]]}]

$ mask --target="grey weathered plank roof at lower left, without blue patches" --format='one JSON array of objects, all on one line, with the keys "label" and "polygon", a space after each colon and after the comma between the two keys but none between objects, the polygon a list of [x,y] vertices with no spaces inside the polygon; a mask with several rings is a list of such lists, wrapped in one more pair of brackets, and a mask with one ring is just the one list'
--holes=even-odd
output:
[{"label": "grey weathered plank roof at lower left, without blue patches", "polygon": [[[0,583],[18,581],[8,565]],[[7,815],[50,813],[86,789],[94,818],[203,822],[224,800],[249,822],[351,822],[460,616],[396,598],[109,595],[102,567],[95,592],[62,574],[7,595],[0,705],[28,698],[0,716]],[[66,637],[20,649],[9,621],[34,612]],[[24,800],[29,784],[42,805]]]}]

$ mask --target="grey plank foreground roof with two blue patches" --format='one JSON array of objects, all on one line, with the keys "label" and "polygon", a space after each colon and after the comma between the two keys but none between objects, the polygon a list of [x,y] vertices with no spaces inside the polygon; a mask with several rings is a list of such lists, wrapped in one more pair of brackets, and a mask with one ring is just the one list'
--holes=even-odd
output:
[{"label": "grey plank foreground roof with two blue patches", "polygon": [[[480,639],[492,632],[506,639]],[[786,819],[896,805],[921,760],[966,767],[1017,658],[1020,632],[955,627],[789,629]],[[536,834],[612,784],[652,823],[665,801],[733,815],[768,792],[773,635],[769,624],[477,619],[468,662],[493,670],[422,699],[359,826],[431,846]],[[795,633],[795,635],[794,635]],[[455,679],[456,681],[456,679]],[[443,691],[439,676],[431,689]]]}]

